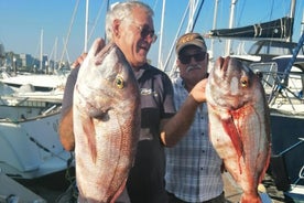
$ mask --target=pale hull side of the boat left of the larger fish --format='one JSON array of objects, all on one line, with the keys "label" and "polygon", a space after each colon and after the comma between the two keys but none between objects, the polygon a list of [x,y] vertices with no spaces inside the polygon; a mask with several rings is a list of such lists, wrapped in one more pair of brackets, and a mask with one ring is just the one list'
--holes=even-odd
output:
[{"label": "pale hull side of the boat left of the larger fish", "polygon": [[13,178],[33,179],[67,168],[70,154],[58,139],[59,111],[23,121],[0,122],[0,169]]}]

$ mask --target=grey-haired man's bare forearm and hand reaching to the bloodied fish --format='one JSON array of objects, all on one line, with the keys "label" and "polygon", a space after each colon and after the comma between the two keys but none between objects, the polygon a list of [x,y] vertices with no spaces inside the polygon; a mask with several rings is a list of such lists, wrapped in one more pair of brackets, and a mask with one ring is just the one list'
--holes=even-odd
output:
[{"label": "grey-haired man's bare forearm and hand reaching to the bloodied fish", "polygon": [[206,101],[207,79],[200,81],[189,93],[180,110],[171,118],[161,121],[161,140],[165,147],[175,146],[189,129],[197,107]]}]

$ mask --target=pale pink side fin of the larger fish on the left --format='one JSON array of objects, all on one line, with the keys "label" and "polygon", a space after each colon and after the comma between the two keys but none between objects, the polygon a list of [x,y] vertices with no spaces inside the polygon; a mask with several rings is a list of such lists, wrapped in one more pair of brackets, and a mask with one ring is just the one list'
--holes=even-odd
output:
[{"label": "pale pink side fin of the larger fish on the left", "polygon": [[90,149],[93,162],[96,162],[97,149],[96,149],[96,138],[95,138],[95,128],[94,128],[93,119],[89,119],[89,121],[87,121],[87,124],[84,125],[84,131],[85,131],[85,135],[87,135],[87,141],[88,141],[88,147]]}]

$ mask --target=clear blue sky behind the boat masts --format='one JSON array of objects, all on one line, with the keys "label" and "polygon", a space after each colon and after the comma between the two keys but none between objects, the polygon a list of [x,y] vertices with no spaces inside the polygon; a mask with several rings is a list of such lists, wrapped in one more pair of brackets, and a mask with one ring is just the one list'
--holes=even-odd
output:
[{"label": "clear blue sky behind the boat masts", "polygon": [[[156,33],[161,29],[162,0],[143,0],[154,9],[154,26]],[[235,10],[235,26],[265,22],[290,14],[291,0],[238,0]],[[68,39],[67,54],[74,61],[84,50],[85,31],[85,0],[80,0],[72,18],[77,0],[0,0],[0,43],[6,52],[40,54],[40,38],[43,30],[43,53],[55,55],[54,45],[57,39],[57,58],[63,55],[64,41]],[[110,3],[116,1],[110,1]],[[225,29],[229,24],[230,0],[219,0],[217,28]],[[162,43],[162,61],[167,57],[174,43],[177,29],[181,24],[188,0],[166,0]],[[213,28],[215,0],[205,0],[195,32],[207,33]],[[101,8],[101,9],[100,9]],[[293,41],[297,42],[301,33],[301,21],[304,12],[303,0],[297,0]],[[89,1],[88,32],[94,32],[88,41],[90,46],[94,39],[105,36],[105,0]],[[70,28],[69,38],[68,31]],[[181,32],[185,32],[185,26]],[[160,39],[160,38],[159,38]],[[209,45],[209,40],[207,45]],[[158,65],[160,41],[153,44],[149,58]],[[237,46],[237,44],[234,45]],[[215,55],[224,54],[224,41],[215,42]],[[64,54],[66,57],[66,54]]]}]

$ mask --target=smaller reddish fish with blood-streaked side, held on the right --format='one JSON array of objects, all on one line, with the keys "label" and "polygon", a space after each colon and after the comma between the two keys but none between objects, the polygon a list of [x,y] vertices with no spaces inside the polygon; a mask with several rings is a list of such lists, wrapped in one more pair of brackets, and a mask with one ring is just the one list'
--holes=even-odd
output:
[{"label": "smaller reddish fish with blood-streaked side, held on the right", "polygon": [[236,58],[219,57],[206,98],[210,141],[243,191],[240,202],[261,202],[258,185],[269,165],[271,143],[269,109],[258,76]]}]

